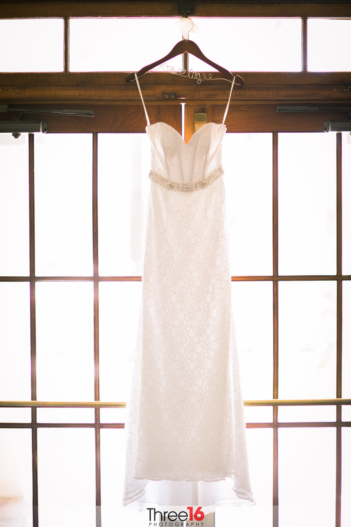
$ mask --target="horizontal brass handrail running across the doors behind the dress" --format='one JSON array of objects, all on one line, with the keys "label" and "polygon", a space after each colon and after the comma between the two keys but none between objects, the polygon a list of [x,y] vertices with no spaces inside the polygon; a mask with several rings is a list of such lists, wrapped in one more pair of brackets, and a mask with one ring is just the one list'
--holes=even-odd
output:
[{"label": "horizontal brass handrail running across the doors behind the dress", "polygon": [[[341,406],[351,405],[351,399],[268,399],[267,401],[244,401],[244,406]],[[126,403],[104,403],[101,401],[0,401],[0,407],[12,408],[125,408]]]}]

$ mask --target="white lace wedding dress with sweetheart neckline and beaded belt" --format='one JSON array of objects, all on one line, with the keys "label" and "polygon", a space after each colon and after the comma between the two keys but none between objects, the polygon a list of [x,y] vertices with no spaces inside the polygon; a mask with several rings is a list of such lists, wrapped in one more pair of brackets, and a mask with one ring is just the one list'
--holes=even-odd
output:
[{"label": "white lace wedding dress with sweetheart neckline and beaded belt", "polygon": [[146,132],[151,190],[123,504],[205,513],[254,504],[230,302],[226,128],[205,124],[188,144],[166,123],[148,121]]}]

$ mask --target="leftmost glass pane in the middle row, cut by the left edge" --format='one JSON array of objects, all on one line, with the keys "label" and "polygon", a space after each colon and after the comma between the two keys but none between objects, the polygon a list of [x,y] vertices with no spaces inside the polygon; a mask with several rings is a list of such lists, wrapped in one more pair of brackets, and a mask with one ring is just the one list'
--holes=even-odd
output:
[{"label": "leftmost glass pane in the middle row, cut by the left edge", "polygon": [[[29,282],[0,282],[0,399],[31,400]],[[19,412],[18,412],[19,410]],[[28,408],[0,408],[0,421],[31,420]]]}]

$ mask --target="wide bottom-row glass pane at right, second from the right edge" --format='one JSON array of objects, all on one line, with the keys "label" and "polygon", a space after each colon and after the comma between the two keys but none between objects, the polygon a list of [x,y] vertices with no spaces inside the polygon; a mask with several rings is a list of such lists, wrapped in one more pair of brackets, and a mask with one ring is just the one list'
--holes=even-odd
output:
[{"label": "wide bottom-row glass pane at right, second from the right edge", "polygon": [[335,434],[279,428],[279,527],[334,527]]}]

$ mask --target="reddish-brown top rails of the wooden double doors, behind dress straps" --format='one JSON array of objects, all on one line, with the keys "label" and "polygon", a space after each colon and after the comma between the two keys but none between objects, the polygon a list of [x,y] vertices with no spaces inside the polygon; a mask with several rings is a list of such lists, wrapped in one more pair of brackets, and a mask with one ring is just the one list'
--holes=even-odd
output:
[{"label": "reddish-brown top rails of the wooden double doors, behind dress straps", "polygon": [[[204,109],[212,111],[209,121],[221,123],[225,111],[226,102],[210,105],[204,104]],[[38,108],[38,105],[26,104],[26,108]],[[44,104],[42,104],[44,106]],[[75,108],[93,110],[94,118],[72,117],[50,114],[26,114],[24,120],[41,119],[48,123],[49,133],[69,133],[69,132],[145,132],[146,119],[141,102],[138,104],[53,104],[54,108]],[[186,105],[187,108],[187,105]],[[194,126],[194,109],[201,110],[201,106],[189,105],[188,125]],[[151,123],[159,121],[173,126],[180,133],[180,104],[157,105],[147,104],[147,112]],[[0,120],[8,121],[15,112],[0,114]],[[243,104],[233,101],[230,103],[226,119],[228,132],[323,132],[323,123],[327,119],[338,119],[346,116],[339,112],[316,112],[309,114],[302,113],[277,113],[276,104]],[[186,139],[188,140],[192,131],[188,130]],[[191,133],[190,133],[191,132]]]}]

